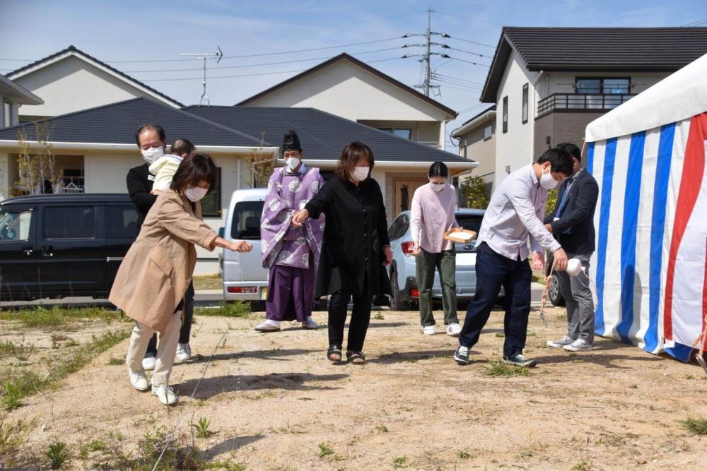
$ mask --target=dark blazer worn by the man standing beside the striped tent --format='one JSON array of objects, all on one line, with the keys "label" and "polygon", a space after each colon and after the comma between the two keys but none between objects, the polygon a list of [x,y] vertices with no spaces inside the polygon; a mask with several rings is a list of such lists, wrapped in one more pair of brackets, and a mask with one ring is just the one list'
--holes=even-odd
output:
[{"label": "dark blazer worn by the man standing beside the striped tent", "polygon": [[559,220],[555,221],[568,181],[566,179],[560,186],[555,209],[544,222],[552,226],[552,233],[568,254],[591,254],[595,251],[594,210],[599,185],[587,169],[583,169],[575,177],[565,207]]}]

